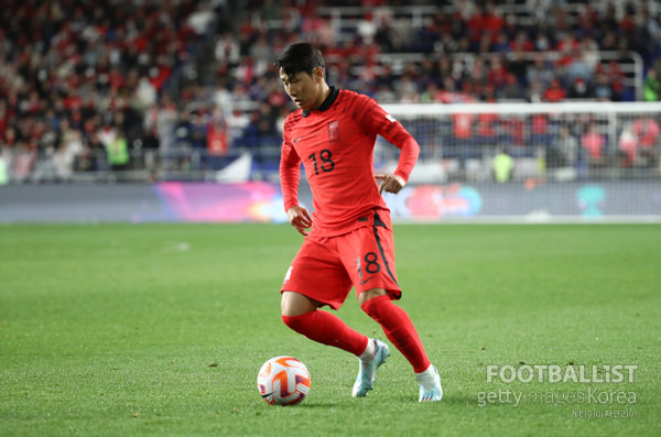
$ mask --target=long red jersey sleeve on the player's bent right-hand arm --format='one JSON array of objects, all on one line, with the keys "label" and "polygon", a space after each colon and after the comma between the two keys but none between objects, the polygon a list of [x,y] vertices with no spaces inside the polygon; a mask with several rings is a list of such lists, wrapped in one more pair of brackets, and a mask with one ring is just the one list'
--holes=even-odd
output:
[{"label": "long red jersey sleeve on the player's bent right-hand arm", "polygon": [[386,112],[375,99],[357,95],[354,108],[356,120],[366,131],[383,136],[388,142],[400,149],[399,163],[394,174],[408,182],[420,155],[418,141],[404,129],[402,123]]}]

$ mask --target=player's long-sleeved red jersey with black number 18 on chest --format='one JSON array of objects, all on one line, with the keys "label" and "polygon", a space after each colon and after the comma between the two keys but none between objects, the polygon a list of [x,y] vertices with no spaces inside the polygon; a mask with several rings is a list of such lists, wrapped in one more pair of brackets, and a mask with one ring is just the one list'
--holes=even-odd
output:
[{"label": "player's long-sleeved red jersey with black number 18 on chest", "polygon": [[286,118],[280,161],[284,210],[299,205],[302,161],[314,204],[310,236],[347,233],[367,226],[359,219],[369,211],[388,211],[375,179],[377,134],[401,150],[394,174],[408,181],[420,146],[373,99],[330,88],[318,109],[297,109]]}]

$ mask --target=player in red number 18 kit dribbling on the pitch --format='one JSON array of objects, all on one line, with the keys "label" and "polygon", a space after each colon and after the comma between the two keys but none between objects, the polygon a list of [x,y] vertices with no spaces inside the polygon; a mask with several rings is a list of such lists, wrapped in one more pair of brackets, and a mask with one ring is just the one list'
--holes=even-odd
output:
[{"label": "player in red number 18 kit dribbling on the pitch", "polygon": [[[329,87],[324,58],[314,45],[292,44],[273,65],[299,107],[284,122],[280,178],[289,221],[305,236],[281,288],[282,319],[314,341],[357,356],[360,364],[353,395],[362,397],[390,356],[388,346],[318,310],[326,305],[338,309],[355,286],[362,310],[412,364],[419,401],[441,401],[438,371],[407,313],[392,303],[401,297],[401,288],[390,210],[381,197],[382,192],[404,187],[420,146],[373,99]],[[401,150],[393,174],[375,175],[377,134]],[[301,162],[312,188],[312,216],[299,205]]]}]

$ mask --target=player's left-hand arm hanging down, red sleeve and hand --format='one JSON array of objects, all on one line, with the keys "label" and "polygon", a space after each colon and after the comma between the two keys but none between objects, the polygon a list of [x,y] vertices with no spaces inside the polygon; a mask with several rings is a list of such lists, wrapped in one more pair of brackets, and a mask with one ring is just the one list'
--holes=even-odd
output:
[{"label": "player's left-hand arm hanging down, red sleeve and hand", "polygon": [[280,156],[280,188],[284,210],[290,223],[303,236],[312,226],[312,217],[307,209],[299,205],[299,183],[301,182],[301,159],[288,140],[285,133]]}]

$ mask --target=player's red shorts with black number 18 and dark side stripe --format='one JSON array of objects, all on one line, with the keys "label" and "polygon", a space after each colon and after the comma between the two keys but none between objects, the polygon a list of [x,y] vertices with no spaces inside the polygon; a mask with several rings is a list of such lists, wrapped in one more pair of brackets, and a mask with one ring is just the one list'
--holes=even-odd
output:
[{"label": "player's red shorts with black number 18 and dark side stripe", "polygon": [[378,216],[373,221],[337,237],[306,238],[281,291],[300,293],[333,309],[344,304],[351,287],[357,295],[383,288],[391,299],[399,299],[392,230]]}]

